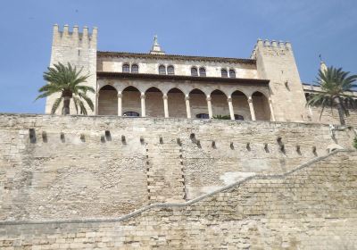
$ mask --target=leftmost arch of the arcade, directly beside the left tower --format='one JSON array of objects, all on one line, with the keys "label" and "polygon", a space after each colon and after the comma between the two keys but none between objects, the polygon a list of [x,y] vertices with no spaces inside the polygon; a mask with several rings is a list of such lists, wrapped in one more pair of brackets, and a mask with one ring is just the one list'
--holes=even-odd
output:
[{"label": "leftmost arch of the arcade, directly beside the left tower", "polygon": [[112,85],[105,85],[99,89],[99,115],[118,115],[118,91]]}]

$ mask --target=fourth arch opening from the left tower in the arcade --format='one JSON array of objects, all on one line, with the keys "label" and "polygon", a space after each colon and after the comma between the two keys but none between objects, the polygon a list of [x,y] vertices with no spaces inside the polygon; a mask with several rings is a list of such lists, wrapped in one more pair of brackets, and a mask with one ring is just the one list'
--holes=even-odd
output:
[{"label": "fourth arch opening from the left tower in the arcade", "polygon": [[168,93],[170,117],[187,117],[185,94],[179,87],[172,87]]}]

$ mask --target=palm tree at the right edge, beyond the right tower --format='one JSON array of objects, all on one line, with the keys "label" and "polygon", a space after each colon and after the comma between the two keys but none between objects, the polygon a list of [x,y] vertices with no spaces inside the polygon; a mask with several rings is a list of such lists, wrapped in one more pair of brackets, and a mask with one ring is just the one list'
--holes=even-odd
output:
[{"label": "palm tree at the right edge, beyond the right tower", "polygon": [[342,71],[342,68],[336,69],[333,66],[319,71],[317,83],[320,84],[322,93],[312,96],[307,105],[321,106],[320,119],[326,106],[336,106],[341,125],[345,125],[345,116],[349,116],[345,104],[353,103],[353,98],[345,92],[357,87],[353,84],[357,75],[349,76],[349,74],[350,72]]}]

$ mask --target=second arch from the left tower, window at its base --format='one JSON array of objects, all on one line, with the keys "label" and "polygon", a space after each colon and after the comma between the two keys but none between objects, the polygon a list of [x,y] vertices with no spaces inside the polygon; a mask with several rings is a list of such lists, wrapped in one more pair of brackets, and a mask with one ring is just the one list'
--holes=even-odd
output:
[{"label": "second arch from the left tower, window at its base", "polygon": [[128,86],[125,87],[122,92],[122,113],[125,112],[137,112],[141,114],[141,101],[140,101],[140,91],[137,87]]}]

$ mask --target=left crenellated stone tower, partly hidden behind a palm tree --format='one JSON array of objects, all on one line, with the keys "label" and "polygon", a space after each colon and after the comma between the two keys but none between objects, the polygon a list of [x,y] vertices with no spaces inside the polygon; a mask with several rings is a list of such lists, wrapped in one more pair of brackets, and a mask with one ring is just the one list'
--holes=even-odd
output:
[{"label": "left crenellated stone tower, partly hidden behind a palm tree", "polygon": [[[94,28],[92,34],[88,33],[88,28],[84,27],[82,32],[79,32],[79,27],[74,26],[72,31],[68,25],[64,25],[60,31],[57,24],[54,25],[54,37],[52,42],[51,62],[54,63],[71,63],[78,69],[82,69],[83,74],[89,74],[87,86],[93,87],[96,90],[96,37],[97,29]],[[95,94],[87,94],[95,104]],[[48,96],[46,99],[46,113],[51,113],[54,100],[60,94]],[[61,113],[62,107],[59,107],[56,113]],[[88,114],[95,114],[87,107]],[[76,110],[71,102],[71,114],[76,114]]]}]

